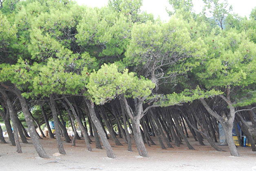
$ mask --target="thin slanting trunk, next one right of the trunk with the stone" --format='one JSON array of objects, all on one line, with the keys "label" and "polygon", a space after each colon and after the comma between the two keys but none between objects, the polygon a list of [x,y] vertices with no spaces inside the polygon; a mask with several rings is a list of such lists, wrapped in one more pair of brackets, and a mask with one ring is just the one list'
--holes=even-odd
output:
[{"label": "thin slanting trunk, next one right of the trunk with the stone", "polygon": [[90,146],[90,141],[88,139],[88,134],[86,134],[86,129],[84,128],[84,125],[82,123],[82,121],[79,119],[77,113],[75,112],[75,108],[73,107],[73,105],[68,101],[68,99],[65,97],[64,100],[66,101],[66,103],[68,104],[68,106],[71,108],[71,111],[73,113],[73,115],[75,116],[77,123],[79,125],[79,127],[81,128],[82,134],[84,136],[84,141],[86,144],[86,147],[88,149],[88,151],[92,151],[92,147]]}]

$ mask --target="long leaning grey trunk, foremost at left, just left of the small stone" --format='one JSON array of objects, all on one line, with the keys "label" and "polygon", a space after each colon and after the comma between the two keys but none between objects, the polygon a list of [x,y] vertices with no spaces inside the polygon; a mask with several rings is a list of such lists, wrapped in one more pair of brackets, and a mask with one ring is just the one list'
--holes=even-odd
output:
[{"label": "long leaning grey trunk, foremost at left, just left of the small stone", "polygon": [[41,158],[49,158],[49,156],[44,151],[44,148],[42,147],[42,145],[40,144],[40,142],[38,140],[38,136],[37,136],[37,133],[35,130],[35,126],[33,124],[33,120],[30,116],[30,111],[29,111],[28,105],[26,104],[26,100],[24,99],[24,97],[22,97],[21,92],[20,92],[20,90],[18,90],[18,88],[15,88],[11,91],[13,91],[18,96],[18,99],[20,101],[20,105],[22,107],[22,111],[23,111],[23,114],[25,117],[26,125],[29,128],[29,133],[31,136],[32,143],[35,147],[35,150],[37,151],[38,155]]}]

